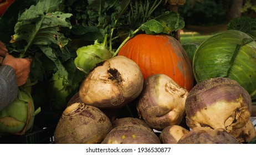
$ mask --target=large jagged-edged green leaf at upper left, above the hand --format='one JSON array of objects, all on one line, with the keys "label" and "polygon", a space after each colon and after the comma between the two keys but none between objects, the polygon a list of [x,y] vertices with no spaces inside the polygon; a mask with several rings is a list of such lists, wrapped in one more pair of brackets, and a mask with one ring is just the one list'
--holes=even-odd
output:
[{"label": "large jagged-edged green leaf at upper left, above the hand", "polygon": [[62,49],[68,44],[68,38],[65,38],[64,34],[60,33],[60,28],[71,28],[70,22],[66,18],[70,18],[70,13],[63,13],[60,11],[59,0],[39,0],[34,6],[30,6],[26,9],[14,27],[14,35],[12,35],[11,43],[16,43],[21,40],[25,40],[25,48],[19,55],[23,58],[26,51],[32,45],[37,45],[40,50],[43,51],[49,59],[54,61],[60,74],[68,76],[67,71],[62,65],[61,61],[54,54],[50,45],[59,46]]}]

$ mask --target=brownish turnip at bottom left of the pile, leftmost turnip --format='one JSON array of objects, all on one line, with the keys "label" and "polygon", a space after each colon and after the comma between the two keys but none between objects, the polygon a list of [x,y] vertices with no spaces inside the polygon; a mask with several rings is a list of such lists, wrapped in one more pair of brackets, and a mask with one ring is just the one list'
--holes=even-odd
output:
[{"label": "brownish turnip at bottom left of the pile, leftmost turnip", "polygon": [[54,132],[55,143],[100,143],[112,129],[97,107],[74,103],[63,111]]}]

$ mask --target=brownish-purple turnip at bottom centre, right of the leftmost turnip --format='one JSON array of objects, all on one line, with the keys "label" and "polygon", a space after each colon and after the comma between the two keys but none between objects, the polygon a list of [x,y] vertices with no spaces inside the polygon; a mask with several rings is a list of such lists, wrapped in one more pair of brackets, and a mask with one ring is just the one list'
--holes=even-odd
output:
[{"label": "brownish-purple turnip at bottom centre, right of the leftmost turnip", "polygon": [[103,144],[160,144],[160,139],[146,122],[139,118],[124,117],[112,123],[112,130]]}]

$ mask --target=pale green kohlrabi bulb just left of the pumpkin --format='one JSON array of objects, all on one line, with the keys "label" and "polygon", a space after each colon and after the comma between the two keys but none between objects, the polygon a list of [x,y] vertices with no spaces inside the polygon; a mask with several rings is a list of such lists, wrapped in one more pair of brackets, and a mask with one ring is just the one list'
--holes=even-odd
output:
[{"label": "pale green kohlrabi bulb just left of the pumpkin", "polygon": [[76,68],[88,74],[94,65],[103,60],[110,59],[113,55],[106,48],[105,44],[100,44],[97,41],[93,45],[83,46],[76,50],[77,57],[74,60]]}]

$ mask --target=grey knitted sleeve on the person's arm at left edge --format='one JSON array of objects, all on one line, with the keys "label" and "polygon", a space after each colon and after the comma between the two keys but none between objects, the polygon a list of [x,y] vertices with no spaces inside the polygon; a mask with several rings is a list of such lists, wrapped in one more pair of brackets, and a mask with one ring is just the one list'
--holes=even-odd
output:
[{"label": "grey knitted sleeve on the person's arm at left edge", "polygon": [[0,66],[0,111],[11,104],[18,95],[15,71],[11,66]]}]

